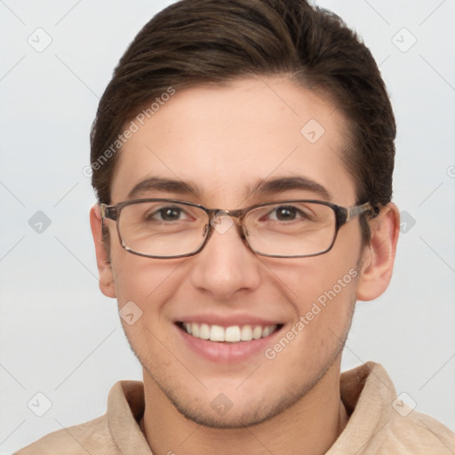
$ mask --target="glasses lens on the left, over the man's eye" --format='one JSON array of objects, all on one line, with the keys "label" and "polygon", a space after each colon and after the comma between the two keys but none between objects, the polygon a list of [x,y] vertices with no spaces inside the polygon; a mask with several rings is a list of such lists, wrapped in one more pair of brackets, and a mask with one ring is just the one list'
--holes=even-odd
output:
[{"label": "glasses lens on the left, over the man's eye", "polygon": [[198,207],[155,201],[124,206],[118,229],[128,250],[166,258],[199,249],[207,223],[207,214]]}]

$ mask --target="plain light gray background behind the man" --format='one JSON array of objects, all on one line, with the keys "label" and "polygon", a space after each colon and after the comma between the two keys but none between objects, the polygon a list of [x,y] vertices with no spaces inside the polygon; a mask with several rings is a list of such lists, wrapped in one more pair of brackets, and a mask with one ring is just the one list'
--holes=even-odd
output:
[{"label": "plain light gray background behind the man", "polygon": [[[170,3],[0,1],[0,453],[98,417],[116,380],[140,379],[116,302],[98,289],[83,169],[117,60]],[[407,221],[390,288],[358,304],[343,368],[382,363],[397,394],[455,430],[455,0],[318,4],[380,63],[398,124],[394,201]],[[52,37],[43,52],[28,44],[45,43],[36,28]],[[37,211],[52,222],[41,234],[28,224]],[[41,418],[28,408],[45,411],[38,392],[52,402]]]}]

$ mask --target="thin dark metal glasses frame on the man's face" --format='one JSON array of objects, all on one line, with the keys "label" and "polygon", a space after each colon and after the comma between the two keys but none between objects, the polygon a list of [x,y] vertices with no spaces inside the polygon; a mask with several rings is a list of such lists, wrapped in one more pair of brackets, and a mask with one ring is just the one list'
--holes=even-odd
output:
[{"label": "thin dark metal glasses frame on the man's face", "polygon": [[[126,243],[124,243],[124,239],[122,238],[122,235],[120,233],[120,227],[119,227],[119,220],[120,220],[120,214],[122,212],[122,209],[124,207],[126,207],[128,205],[132,205],[132,204],[154,203],[154,202],[167,202],[167,203],[188,205],[190,207],[199,208],[199,209],[203,210],[205,213],[207,213],[209,220],[208,220],[207,226],[205,227],[204,242],[196,249],[196,251],[192,251],[192,252],[185,253],[185,254],[174,255],[174,256],[156,256],[156,255],[141,253],[138,251],[133,251],[128,245],[126,245]],[[295,255],[295,256],[286,256],[286,255],[282,256],[282,255],[278,255],[278,254],[266,254],[266,253],[262,253],[262,252],[254,250],[248,241],[248,235],[245,232],[245,229],[243,227],[243,220],[244,220],[245,216],[248,214],[248,212],[251,212],[252,210],[257,209],[259,207],[264,207],[266,205],[293,204],[293,203],[321,204],[321,205],[325,205],[325,206],[331,208],[331,210],[335,213],[336,224],[335,224],[335,234],[333,235],[333,240],[331,241],[330,246],[327,249],[325,249],[324,251],[311,253],[311,254],[300,254],[300,255]],[[250,207],[246,207],[244,209],[223,210],[223,209],[208,209],[208,208],[204,207],[204,205],[190,203],[188,201],[180,201],[180,199],[145,198],[145,199],[132,199],[130,201],[123,201],[123,202],[120,202],[115,205],[100,204],[100,212],[101,212],[102,227],[104,227],[104,220],[106,220],[106,219],[116,221],[117,236],[118,236],[118,240],[119,240],[120,244],[122,245],[122,248],[124,248],[125,251],[131,252],[132,254],[136,254],[137,256],[142,256],[145,258],[178,259],[178,258],[188,258],[189,256],[196,255],[198,252],[200,252],[204,249],[204,246],[208,243],[208,241],[210,240],[210,238],[213,234],[213,231],[215,230],[212,221],[218,217],[228,216],[229,218],[232,218],[235,220],[235,224],[237,226],[237,232],[239,233],[243,242],[246,243],[246,245],[248,246],[250,251],[252,251],[254,254],[257,254],[259,256],[265,256],[267,258],[291,259],[291,258],[309,258],[309,257],[313,257],[313,256],[320,256],[321,254],[325,254],[326,252],[331,251],[331,248],[333,247],[333,244],[335,243],[335,241],[337,239],[339,228],[344,226],[348,221],[352,220],[353,218],[362,215],[364,212],[370,212],[371,218],[377,217],[379,214],[379,207],[373,207],[370,203],[365,203],[365,204],[361,204],[361,205],[353,205],[351,207],[342,207],[340,205],[332,204],[327,201],[318,201],[318,200],[313,200],[313,199],[290,199],[290,200],[285,200],[285,201],[272,201],[272,202],[268,202],[268,203],[254,204],[254,205],[251,205]]]}]

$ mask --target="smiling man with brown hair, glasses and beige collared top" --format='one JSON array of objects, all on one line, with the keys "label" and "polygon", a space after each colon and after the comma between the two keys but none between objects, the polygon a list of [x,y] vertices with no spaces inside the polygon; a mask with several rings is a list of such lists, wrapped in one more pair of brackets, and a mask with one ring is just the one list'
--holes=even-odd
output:
[{"label": "smiling man with brown hair, glasses and beige collared top", "polygon": [[379,364],[339,376],[355,301],[392,274],[394,140],[377,65],[333,14],[156,15],[92,130],[100,289],[144,381],[18,453],[453,453],[448,428],[395,411]]}]

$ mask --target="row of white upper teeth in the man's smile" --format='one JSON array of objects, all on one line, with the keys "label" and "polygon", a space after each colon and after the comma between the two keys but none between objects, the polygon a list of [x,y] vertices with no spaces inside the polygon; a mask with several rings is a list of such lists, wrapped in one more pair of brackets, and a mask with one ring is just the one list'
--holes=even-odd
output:
[{"label": "row of white upper teeth in the man's smile", "polygon": [[185,330],[193,337],[210,339],[211,341],[251,341],[251,339],[264,338],[276,330],[276,324],[266,326],[231,325],[221,327],[220,325],[209,325],[207,323],[183,323]]}]

